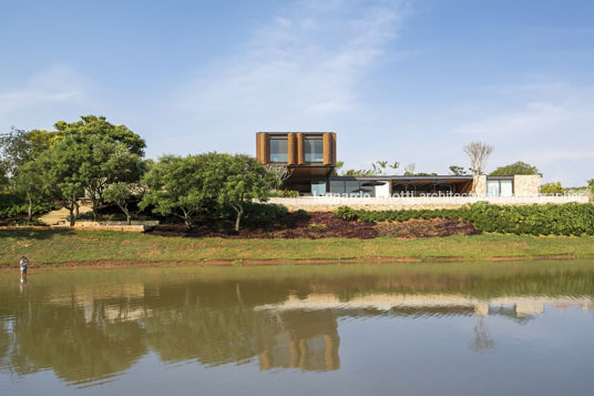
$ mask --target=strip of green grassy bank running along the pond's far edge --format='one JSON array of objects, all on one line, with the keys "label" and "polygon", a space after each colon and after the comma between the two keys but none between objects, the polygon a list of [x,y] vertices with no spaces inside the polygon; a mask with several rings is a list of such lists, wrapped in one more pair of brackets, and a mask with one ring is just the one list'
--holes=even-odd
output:
[{"label": "strip of green grassy bank running along the pond's far edge", "polygon": [[594,237],[477,235],[401,241],[222,240],[163,237],[107,231],[0,231],[0,266],[27,254],[34,264],[76,262],[202,262],[218,260],[308,260],[396,257],[594,256]]}]

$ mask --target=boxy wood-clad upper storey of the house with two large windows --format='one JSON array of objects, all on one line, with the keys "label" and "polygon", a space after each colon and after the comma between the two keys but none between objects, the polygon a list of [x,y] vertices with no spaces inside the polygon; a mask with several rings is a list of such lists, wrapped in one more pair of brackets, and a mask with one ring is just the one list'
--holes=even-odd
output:
[{"label": "boxy wood-clad upper storey of the house with two large windows", "polygon": [[334,132],[258,132],[256,158],[263,164],[335,166]]}]

